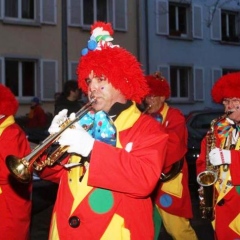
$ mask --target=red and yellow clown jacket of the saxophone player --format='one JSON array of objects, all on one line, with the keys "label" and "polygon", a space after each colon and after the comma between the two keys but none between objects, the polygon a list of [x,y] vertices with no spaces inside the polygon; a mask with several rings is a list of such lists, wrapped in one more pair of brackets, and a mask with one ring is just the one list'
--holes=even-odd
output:
[{"label": "red and yellow clown jacket of the saxophone player", "polygon": [[[230,135],[235,135],[235,128],[227,129],[229,123],[221,120],[221,124],[214,127],[215,147],[223,148],[223,144]],[[224,134],[221,134],[224,133]],[[239,133],[238,133],[239,134]],[[205,171],[208,166],[206,159],[209,151],[206,148],[207,138],[201,143],[201,153],[197,159],[197,174]],[[231,164],[228,171],[224,172],[220,166],[218,172],[218,181],[215,183],[217,196],[215,198],[215,220],[212,221],[213,228],[218,240],[239,239],[240,238],[240,137],[236,142],[235,149],[231,151]],[[220,187],[220,183],[222,186]]]}]

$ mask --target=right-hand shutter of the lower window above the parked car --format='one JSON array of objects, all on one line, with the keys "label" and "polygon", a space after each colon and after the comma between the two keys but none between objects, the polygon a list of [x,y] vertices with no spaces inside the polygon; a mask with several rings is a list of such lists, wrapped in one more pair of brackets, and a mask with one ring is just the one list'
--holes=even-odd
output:
[{"label": "right-hand shutter of the lower window above the parked car", "polygon": [[204,70],[203,68],[194,68],[194,100],[203,101],[204,95]]}]

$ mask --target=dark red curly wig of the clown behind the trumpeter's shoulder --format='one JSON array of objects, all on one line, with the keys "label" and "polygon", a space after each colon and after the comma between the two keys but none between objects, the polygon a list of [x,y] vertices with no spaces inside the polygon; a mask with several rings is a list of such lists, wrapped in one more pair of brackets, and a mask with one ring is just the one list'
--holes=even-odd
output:
[{"label": "dark red curly wig of the clown behind the trumpeter's shoulder", "polygon": [[149,95],[164,96],[166,99],[170,96],[170,87],[167,80],[156,72],[153,75],[145,76],[148,86],[150,88]]}]

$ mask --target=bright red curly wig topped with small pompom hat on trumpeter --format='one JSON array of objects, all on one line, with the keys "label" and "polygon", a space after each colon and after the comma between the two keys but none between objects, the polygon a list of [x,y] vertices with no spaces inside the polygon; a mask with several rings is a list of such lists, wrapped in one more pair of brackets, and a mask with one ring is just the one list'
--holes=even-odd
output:
[{"label": "bright red curly wig topped with small pompom hat on trumpeter", "polygon": [[149,90],[140,63],[130,52],[111,43],[110,23],[96,22],[91,33],[77,68],[79,87],[87,92],[85,79],[93,70],[96,76],[105,76],[126,99],[140,103]]}]

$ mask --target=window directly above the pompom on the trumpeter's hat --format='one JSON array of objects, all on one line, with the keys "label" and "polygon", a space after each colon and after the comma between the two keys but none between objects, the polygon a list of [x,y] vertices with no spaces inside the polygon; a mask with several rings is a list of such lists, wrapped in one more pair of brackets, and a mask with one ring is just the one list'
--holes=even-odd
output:
[{"label": "window directly above the pompom on the trumpeter's hat", "polygon": [[107,0],[83,0],[83,25],[107,22]]}]

